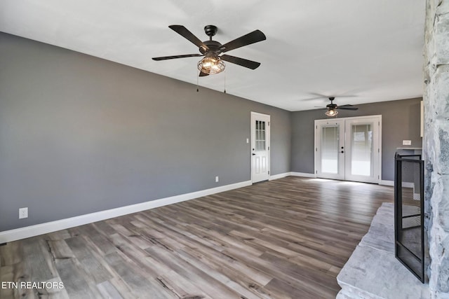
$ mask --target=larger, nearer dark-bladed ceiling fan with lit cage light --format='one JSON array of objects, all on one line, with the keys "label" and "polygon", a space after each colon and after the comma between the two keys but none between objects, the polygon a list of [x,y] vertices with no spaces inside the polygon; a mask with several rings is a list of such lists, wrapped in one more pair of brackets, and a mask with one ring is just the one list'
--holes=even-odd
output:
[{"label": "larger, nearer dark-bladed ceiling fan with lit cage light", "polygon": [[201,54],[187,54],[187,55],[175,55],[175,56],[163,56],[163,57],[153,57],[153,60],[171,60],[175,58],[185,58],[185,57],[203,57],[198,62],[198,69],[200,71],[199,76],[208,76],[211,74],[218,74],[225,70],[225,62],[231,62],[234,64],[239,64],[242,67],[247,67],[248,69],[257,69],[260,66],[260,62],[254,62],[251,60],[246,60],[244,58],[235,57],[231,55],[220,55],[230,50],[236,48],[241,48],[243,46],[248,46],[251,43],[257,43],[259,41],[264,41],[267,39],[265,34],[260,30],[255,30],[246,35],[240,36],[229,43],[222,45],[218,41],[213,41],[212,36],[217,34],[217,27],[214,25],[207,25],[204,27],[204,32],[209,36],[208,41],[200,41],[192,32],[182,26],[182,25],[170,25],[170,29],[184,36],[185,39],[194,43],[195,46],[199,48]]}]

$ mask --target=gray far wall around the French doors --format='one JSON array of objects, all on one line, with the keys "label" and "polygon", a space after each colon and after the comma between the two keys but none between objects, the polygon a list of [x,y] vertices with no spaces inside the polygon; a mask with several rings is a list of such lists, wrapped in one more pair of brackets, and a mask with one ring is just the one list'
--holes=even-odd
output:
[{"label": "gray far wall around the French doors", "polygon": [[[357,105],[357,111],[340,110],[338,117],[382,115],[382,179],[394,180],[394,153],[398,147],[422,147],[420,101],[402,99]],[[340,100],[337,99],[337,103]],[[344,104],[344,103],[342,103]],[[324,119],[324,111],[297,111],[292,116],[292,172],[314,173],[314,120]],[[403,146],[403,139],[412,146]]]}]

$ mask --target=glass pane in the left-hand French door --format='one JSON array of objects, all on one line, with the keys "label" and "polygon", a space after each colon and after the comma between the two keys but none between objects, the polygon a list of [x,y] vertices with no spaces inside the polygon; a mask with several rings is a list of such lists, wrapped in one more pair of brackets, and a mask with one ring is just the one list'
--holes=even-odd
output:
[{"label": "glass pane in the left-hand French door", "polygon": [[323,127],[321,134],[321,172],[338,173],[339,127]]}]

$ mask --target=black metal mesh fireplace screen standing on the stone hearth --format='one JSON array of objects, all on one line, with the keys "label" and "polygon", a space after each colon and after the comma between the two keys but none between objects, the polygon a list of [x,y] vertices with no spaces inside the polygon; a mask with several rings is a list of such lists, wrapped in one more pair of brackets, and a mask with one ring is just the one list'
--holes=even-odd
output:
[{"label": "black metal mesh fireplace screen standing on the stone hearth", "polygon": [[424,283],[424,161],[396,153],[394,170],[395,256]]}]

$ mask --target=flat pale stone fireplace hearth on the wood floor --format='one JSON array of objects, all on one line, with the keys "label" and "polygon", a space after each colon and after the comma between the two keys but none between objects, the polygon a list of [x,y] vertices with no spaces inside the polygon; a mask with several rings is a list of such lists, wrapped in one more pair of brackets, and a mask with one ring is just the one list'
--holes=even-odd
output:
[{"label": "flat pale stone fireplace hearth on the wood floor", "polygon": [[388,202],[338,274],[337,299],[430,298],[429,285],[395,258],[394,249],[394,204]]}]

